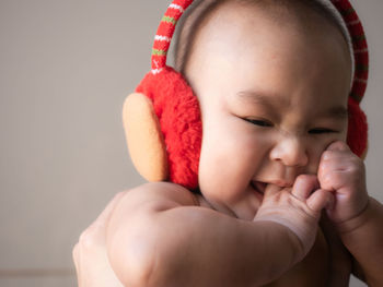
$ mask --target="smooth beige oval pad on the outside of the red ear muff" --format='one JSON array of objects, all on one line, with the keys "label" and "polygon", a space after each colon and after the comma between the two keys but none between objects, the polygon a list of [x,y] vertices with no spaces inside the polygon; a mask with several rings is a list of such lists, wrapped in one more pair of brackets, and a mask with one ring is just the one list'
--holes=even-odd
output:
[{"label": "smooth beige oval pad on the outside of the red ear muff", "polygon": [[166,148],[151,100],[143,94],[130,94],[124,104],[123,121],[138,172],[149,181],[166,180]]}]

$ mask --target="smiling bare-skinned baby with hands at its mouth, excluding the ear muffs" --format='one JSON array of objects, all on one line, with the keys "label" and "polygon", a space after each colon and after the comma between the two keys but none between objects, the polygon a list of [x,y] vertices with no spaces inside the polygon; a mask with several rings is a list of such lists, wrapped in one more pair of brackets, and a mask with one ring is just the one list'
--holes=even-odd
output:
[{"label": "smiling bare-skinned baby with hands at its mouth, excluding the ear muffs", "polygon": [[[383,286],[383,206],[345,143],[352,60],[334,17],[316,1],[217,1],[186,19],[176,65],[201,109],[200,194],[167,182],[119,194],[93,226],[108,254],[97,276],[288,287],[352,273]],[[90,234],[73,250],[80,286]]]}]

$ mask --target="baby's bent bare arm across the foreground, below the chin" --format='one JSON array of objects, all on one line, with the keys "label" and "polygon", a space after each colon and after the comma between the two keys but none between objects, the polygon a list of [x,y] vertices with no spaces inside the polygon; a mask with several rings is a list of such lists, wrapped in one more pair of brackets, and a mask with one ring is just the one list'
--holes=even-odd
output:
[{"label": "baby's bent bare arm across the foreground, below the chin", "polygon": [[[272,199],[276,192],[267,193]],[[314,240],[301,242],[267,207],[264,217],[245,222],[196,205],[189,191],[172,183],[126,193],[107,230],[111,264],[125,286],[259,286],[301,260]],[[301,213],[305,207],[298,205]],[[323,206],[314,207],[309,217],[300,214],[302,229],[316,230]]]}]

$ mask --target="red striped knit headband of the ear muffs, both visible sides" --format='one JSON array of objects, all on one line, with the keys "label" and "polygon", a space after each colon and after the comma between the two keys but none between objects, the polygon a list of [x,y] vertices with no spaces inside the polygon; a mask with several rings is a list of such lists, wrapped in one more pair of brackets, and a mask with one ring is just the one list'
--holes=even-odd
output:
[{"label": "red striped knit headband of the ear muffs, both visible sides", "polygon": [[[161,20],[154,37],[151,72],[161,73],[166,67],[166,57],[175,26],[193,0],[173,0]],[[358,104],[362,100],[369,76],[369,52],[363,26],[349,0],[330,0],[346,23],[351,38],[355,59],[355,73],[350,97]]]}]

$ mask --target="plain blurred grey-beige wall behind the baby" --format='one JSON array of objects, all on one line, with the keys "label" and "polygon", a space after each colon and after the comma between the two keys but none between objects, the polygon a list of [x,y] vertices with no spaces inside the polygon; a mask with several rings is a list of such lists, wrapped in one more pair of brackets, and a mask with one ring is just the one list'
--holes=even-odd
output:
[{"label": "plain blurred grey-beige wall behind the baby", "polygon": [[[76,286],[80,232],[143,182],[120,112],[169,2],[0,0],[0,286]],[[383,1],[352,3],[371,52],[368,188],[383,202]]]}]

